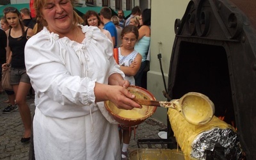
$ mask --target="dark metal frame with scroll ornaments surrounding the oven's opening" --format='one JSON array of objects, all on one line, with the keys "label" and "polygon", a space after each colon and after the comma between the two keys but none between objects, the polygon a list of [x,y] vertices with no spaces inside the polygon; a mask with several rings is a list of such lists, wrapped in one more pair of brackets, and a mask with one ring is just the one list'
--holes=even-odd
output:
[{"label": "dark metal frame with scroll ornaments surrounding the oven's opening", "polygon": [[[241,3],[246,3],[246,1],[241,1]],[[179,92],[182,86],[177,85],[180,84],[177,82],[179,58],[182,51],[180,44],[222,47],[228,61],[227,76],[230,81],[230,93],[228,94],[232,100],[231,106],[234,110],[239,141],[246,154],[246,159],[256,159],[255,26],[252,26],[244,12],[230,1],[194,0],[189,1],[182,19],[175,20],[175,33],[170,61],[168,95],[172,99],[179,99],[184,94]],[[182,47],[186,47],[186,45],[182,45]],[[218,65],[218,60],[216,60],[216,65]],[[193,68],[188,67],[187,69]],[[193,88],[194,92],[195,90],[197,89]],[[173,132],[168,123],[168,137],[171,136],[173,136]]]}]

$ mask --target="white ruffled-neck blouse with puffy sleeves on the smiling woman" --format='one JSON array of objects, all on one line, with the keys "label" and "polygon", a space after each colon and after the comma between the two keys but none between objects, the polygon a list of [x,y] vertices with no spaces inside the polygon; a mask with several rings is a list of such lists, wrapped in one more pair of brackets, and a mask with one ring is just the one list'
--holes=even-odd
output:
[{"label": "white ruffled-neck blouse with puffy sleeves on the smiling woman", "polygon": [[84,33],[81,44],[59,38],[47,28],[26,43],[26,70],[36,93],[36,108],[54,118],[84,116],[100,109],[114,122],[103,102],[95,104],[93,88],[95,82],[108,84],[113,73],[123,77],[124,73],[113,58],[113,45],[100,29],[80,27]]}]

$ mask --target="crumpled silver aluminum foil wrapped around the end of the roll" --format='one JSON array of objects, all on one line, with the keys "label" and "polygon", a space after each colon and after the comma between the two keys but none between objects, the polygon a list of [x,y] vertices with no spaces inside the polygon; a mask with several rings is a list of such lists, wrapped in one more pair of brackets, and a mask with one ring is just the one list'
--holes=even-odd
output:
[{"label": "crumpled silver aluminum foil wrapped around the end of the roll", "polygon": [[214,151],[216,144],[221,145],[227,159],[241,159],[242,149],[236,132],[232,129],[213,128],[204,131],[195,138],[191,144],[191,157],[206,159],[206,150]]}]

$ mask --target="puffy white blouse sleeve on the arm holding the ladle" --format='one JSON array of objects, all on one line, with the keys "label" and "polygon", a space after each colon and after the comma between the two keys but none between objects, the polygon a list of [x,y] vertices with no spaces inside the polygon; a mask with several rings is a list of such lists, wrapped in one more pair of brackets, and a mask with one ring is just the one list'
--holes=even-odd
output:
[{"label": "puffy white blouse sleeve on the arm holding the ladle", "polygon": [[[81,64],[75,63],[77,56],[65,60],[65,56],[61,56],[65,47],[58,43],[58,39],[58,35],[44,28],[26,43],[26,70],[37,96],[47,95],[62,105],[92,104],[95,101],[93,88],[96,79],[79,75],[82,70],[79,67]],[[74,71],[71,67],[77,69]]]}]

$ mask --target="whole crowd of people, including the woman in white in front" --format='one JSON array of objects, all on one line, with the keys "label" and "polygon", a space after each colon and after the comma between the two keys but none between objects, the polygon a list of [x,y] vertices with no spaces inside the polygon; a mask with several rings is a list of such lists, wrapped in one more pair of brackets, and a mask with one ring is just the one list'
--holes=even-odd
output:
[{"label": "whole crowd of people, including the woman in white in front", "polygon": [[[31,159],[127,159],[131,127],[119,125],[104,101],[141,108],[126,88],[145,88],[151,10],[135,6],[125,19],[122,10],[112,16],[102,7],[80,17],[75,2],[34,0],[36,20],[28,8],[4,8],[0,65],[1,71],[10,69],[12,90],[0,88],[8,95],[2,113],[19,109],[20,141],[33,141]],[[31,90],[33,116],[26,103]]]}]

